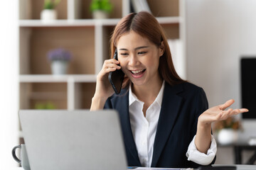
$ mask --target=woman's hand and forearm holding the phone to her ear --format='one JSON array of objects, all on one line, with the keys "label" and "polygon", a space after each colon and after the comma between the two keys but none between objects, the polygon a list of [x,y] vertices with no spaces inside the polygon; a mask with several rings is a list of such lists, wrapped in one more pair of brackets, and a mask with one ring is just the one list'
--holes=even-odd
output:
[{"label": "woman's hand and forearm holding the phone to her ear", "polygon": [[95,95],[92,98],[91,110],[102,109],[107,98],[114,94],[108,75],[116,69],[121,69],[117,64],[120,64],[117,60],[105,60],[100,73],[97,74],[96,90]]}]

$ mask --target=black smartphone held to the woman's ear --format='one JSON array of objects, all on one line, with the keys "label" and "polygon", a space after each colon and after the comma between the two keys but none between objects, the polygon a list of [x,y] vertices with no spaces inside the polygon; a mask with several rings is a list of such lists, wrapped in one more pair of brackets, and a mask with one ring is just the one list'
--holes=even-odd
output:
[{"label": "black smartphone held to the woman's ear", "polygon": [[[118,60],[117,49],[114,51],[114,59]],[[114,93],[119,94],[122,89],[122,82],[124,81],[124,72],[122,72],[122,69],[117,69],[114,72],[110,72],[108,78],[112,88],[114,89]]]}]

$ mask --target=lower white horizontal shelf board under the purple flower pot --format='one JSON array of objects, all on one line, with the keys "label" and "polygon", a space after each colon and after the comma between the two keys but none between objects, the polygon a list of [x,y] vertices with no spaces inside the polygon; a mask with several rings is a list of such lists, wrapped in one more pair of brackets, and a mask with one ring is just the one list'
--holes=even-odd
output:
[{"label": "lower white horizontal shelf board under the purple flower pot", "polygon": [[51,75],[51,74],[33,74],[20,75],[19,81],[21,83],[36,83],[36,82],[96,82],[97,75],[95,74],[66,74],[66,75]]}]

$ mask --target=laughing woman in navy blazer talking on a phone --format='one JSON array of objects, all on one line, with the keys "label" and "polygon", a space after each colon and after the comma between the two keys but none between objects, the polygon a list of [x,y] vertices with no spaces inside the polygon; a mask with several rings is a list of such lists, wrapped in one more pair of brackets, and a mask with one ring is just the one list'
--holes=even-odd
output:
[{"label": "laughing woman in navy blazer talking on a phone", "polygon": [[[129,166],[213,164],[211,123],[247,109],[224,111],[233,100],[208,109],[203,89],[178,77],[166,35],[149,13],[130,13],[119,21],[111,39],[112,55],[115,49],[118,61],[105,60],[97,75],[91,111],[119,112]],[[126,74],[119,95],[107,79],[116,69]]]}]

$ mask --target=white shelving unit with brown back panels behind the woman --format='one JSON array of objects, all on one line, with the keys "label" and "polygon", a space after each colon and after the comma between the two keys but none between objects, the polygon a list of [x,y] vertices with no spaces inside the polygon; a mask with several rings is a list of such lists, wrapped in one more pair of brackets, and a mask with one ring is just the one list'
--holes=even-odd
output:
[{"label": "white shelving unit with brown back panels behind the woman", "polygon": [[[36,102],[48,100],[60,109],[90,108],[97,73],[109,57],[112,30],[131,11],[129,0],[110,0],[114,4],[110,18],[95,20],[90,16],[90,1],[60,1],[59,19],[47,23],[39,18],[43,0],[19,0],[20,109],[33,109]],[[183,0],[148,3],[168,38],[183,41]],[[158,11],[162,8],[165,11]],[[74,59],[68,74],[56,77],[50,74],[46,53],[58,46],[70,50]]]}]

